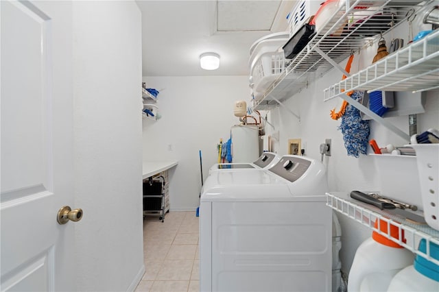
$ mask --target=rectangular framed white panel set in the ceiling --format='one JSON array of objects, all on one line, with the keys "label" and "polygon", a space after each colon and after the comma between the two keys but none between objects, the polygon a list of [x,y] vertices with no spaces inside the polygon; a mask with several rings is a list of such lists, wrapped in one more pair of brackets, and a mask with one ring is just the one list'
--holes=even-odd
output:
[{"label": "rectangular framed white panel set in the ceiling", "polygon": [[269,32],[281,2],[218,0],[217,32]]}]

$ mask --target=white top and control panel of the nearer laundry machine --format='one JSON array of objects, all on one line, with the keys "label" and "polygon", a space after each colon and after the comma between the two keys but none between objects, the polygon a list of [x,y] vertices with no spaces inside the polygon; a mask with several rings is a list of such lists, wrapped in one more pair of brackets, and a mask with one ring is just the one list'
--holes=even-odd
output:
[{"label": "white top and control panel of the nearer laundry machine", "polygon": [[[202,188],[201,201],[326,200],[326,171],[317,160],[283,156],[268,170],[215,171]],[[304,198],[306,197],[306,198]]]}]

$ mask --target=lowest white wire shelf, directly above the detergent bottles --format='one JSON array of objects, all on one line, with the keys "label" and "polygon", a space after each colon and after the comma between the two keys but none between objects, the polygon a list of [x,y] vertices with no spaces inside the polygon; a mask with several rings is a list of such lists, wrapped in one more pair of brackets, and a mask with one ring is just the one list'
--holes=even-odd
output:
[{"label": "lowest white wire shelf, directly above the detergent bottles", "polygon": [[[438,230],[429,228],[425,224],[412,223],[411,221],[405,220],[397,215],[385,212],[385,210],[379,210],[379,208],[375,208],[374,206],[363,204],[361,202],[352,202],[351,199],[347,199],[347,197],[348,195],[346,193],[327,193],[327,206],[351,219],[354,219],[364,226],[367,226],[371,230],[378,232],[386,238],[405,247],[407,250],[439,265],[439,260],[432,258],[429,250],[430,242],[439,245]],[[388,223],[388,233],[381,232],[381,230],[375,228],[374,225],[377,219]],[[398,228],[398,239],[388,235],[390,234],[391,225]],[[426,252],[418,250],[421,239],[425,239],[426,241]]]}]

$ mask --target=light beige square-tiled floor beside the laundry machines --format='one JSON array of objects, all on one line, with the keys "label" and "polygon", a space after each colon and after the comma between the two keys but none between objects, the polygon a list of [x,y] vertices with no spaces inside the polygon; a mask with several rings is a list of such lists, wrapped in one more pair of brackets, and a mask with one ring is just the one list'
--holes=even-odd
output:
[{"label": "light beige square-tiled floor beside the laundry machines", "polygon": [[136,292],[200,291],[198,217],[169,212],[165,222],[156,216],[143,221],[145,275]]}]

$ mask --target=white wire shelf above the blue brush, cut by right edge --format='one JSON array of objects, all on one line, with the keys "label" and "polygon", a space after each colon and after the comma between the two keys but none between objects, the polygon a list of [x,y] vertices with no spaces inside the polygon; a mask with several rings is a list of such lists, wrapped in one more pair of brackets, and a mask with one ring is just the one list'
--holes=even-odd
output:
[{"label": "white wire shelf above the blue brush, cut by right edge", "polygon": [[351,90],[424,91],[439,87],[439,31],[412,42],[324,90],[324,101]]}]

